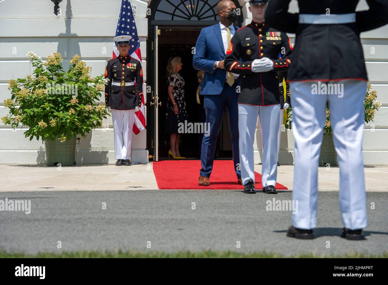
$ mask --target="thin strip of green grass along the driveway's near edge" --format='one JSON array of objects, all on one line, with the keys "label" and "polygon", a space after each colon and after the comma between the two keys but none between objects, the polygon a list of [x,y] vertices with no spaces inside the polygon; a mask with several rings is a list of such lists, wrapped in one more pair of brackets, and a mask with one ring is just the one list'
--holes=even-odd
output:
[{"label": "thin strip of green grass along the driveway's near edge", "polygon": [[177,251],[174,253],[168,252],[132,252],[132,251],[116,251],[116,252],[99,252],[99,251],[78,251],[78,252],[42,252],[38,254],[23,254],[23,253],[9,253],[0,251],[0,258],[22,258],[22,257],[33,257],[33,258],[111,258],[111,257],[132,257],[132,258],[282,258],[282,257],[293,257],[293,258],[388,258],[388,251],[374,255],[374,254],[362,254],[362,253],[349,253],[346,255],[316,255],[312,253],[297,254],[294,256],[282,256],[280,254],[270,252],[252,252],[252,253],[239,253],[232,251],[201,251],[201,252],[190,252],[190,251]]}]

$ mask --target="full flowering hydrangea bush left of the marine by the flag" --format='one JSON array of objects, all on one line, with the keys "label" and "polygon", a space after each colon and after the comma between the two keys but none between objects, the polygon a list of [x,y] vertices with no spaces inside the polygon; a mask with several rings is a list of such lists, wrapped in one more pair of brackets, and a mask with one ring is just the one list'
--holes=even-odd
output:
[{"label": "full flowering hydrangea bush left of the marine by the flag", "polygon": [[103,75],[92,78],[92,68],[78,55],[71,58],[67,72],[59,53],[49,55],[44,64],[33,52],[26,56],[34,71],[8,82],[12,96],[4,100],[10,110],[1,118],[4,124],[13,129],[19,124],[28,127],[24,134],[29,140],[58,137],[61,142],[77,135],[85,138],[90,130],[104,125],[102,120],[110,114],[97,103],[107,84]]}]

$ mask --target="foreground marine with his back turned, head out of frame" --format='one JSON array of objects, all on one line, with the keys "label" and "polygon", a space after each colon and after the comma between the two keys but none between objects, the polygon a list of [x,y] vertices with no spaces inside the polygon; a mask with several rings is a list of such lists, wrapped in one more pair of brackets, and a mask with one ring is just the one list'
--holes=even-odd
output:
[{"label": "foreground marine with his back turned, head out of frame", "polygon": [[[314,238],[317,167],[328,102],[340,166],[341,237],[360,240],[367,226],[362,136],[368,80],[360,32],[388,23],[388,2],[367,0],[369,10],[355,12],[359,0],[299,0],[299,13],[291,14],[290,1],[271,0],[265,12],[271,26],[296,34],[287,81],[293,105],[293,200],[298,200],[298,213],[292,215],[287,236]],[[343,92],[316,94],[313,88],[318,85]]]}]

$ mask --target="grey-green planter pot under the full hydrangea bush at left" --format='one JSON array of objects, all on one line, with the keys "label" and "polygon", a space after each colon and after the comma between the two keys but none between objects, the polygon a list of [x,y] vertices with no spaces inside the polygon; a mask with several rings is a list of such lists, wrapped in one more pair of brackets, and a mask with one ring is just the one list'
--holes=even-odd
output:
[{"label": "grey-green planter pot under the full hydrangea bush at left", "polygon": [[76,165],[76,137],[60,142],[45,139],[46,165],[47,166],[71,166]]}]

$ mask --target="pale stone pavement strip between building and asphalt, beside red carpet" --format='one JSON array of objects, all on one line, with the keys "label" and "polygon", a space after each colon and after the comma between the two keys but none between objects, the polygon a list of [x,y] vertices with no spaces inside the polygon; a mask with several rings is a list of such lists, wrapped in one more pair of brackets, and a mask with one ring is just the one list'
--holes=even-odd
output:
[{"label": "pale stone pavement strip between building and asphalt, beside red carpet", "polygon": [[[367,191],[388,192],[388,166],[365,166],[364,169]],[[293,188],[293,170],[293,165],[282,165],[278,168],[277,182],[290,190]],[[261,173],[261,165],[255,165],[255,171]],[[320,167],[319,190],[338,191],[339,175],[338,167]],[[152,162],[133,166],[79,164],[66,167],[0,164],[0,180],[0,192],[158,189]]]}]

